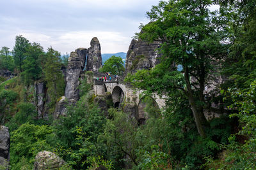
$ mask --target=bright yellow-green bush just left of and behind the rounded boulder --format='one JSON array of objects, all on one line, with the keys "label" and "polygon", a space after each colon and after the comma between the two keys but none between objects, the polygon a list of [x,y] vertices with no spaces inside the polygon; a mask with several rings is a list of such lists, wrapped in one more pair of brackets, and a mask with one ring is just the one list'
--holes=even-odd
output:
[{"label": "bright yellow-green bush just left of and behind the rounded boulder", "polygon": [[12,169],[19,169],[25,165],[31,167],[38,152],[51,150],[52,148],[46,140],[51,133],[52,129],[47,125],[38,126],[29,123],[22,124],[13,131],[10,146]]}]

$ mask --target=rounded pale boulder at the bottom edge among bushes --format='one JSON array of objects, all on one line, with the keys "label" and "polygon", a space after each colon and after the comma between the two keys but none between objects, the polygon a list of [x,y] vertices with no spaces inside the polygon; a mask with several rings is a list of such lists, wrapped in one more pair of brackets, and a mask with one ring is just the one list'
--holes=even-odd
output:
[{"label": "rounded pale boulder at the bottom edge among bushes", "polygon": [[58,157],[55,153],[42,151],[36,155],[34,169],[59,169],[64,164],[64,160]]}]

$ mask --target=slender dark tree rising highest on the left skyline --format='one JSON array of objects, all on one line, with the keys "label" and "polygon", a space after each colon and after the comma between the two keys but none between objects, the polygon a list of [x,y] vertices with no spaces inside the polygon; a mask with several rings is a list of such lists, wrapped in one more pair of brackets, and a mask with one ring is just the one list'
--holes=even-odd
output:
[{"label": "slender dark tree rising highest on the left skyline", "polygon": [[23,36],[16,36],[15,38],[15,46],[13,47],[13,59],[15,65],[18,67],[19,71],[22,70],[22,65],[24,60],[26,59],[26,49],[30,45],[28,39],[24,38]]}]

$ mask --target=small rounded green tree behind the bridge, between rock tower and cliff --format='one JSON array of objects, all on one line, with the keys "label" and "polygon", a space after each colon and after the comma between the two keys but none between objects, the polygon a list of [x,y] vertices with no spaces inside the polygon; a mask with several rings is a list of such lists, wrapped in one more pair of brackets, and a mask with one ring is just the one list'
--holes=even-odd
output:
[{"label": "small rounded green tree behind the bridge, between rock tower and cliff", "polygon": [[124,62],[121,57],[113,55],[104,63],[101,72],[110,72],[111,74],[122,75],[124,72]]}]

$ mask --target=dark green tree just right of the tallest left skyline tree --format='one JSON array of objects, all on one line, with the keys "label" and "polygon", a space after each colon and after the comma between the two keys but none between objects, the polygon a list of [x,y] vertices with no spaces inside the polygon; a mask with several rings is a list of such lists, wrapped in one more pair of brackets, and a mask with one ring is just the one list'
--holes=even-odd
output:
[{"label": "dark green tree just right of the tallest left skyline tree", "polygon": [[20,76],[25,85],[29,85],[42,76],[40,59],[44,56],[43,47],[38,43],[32,43],[26,48],[24,56],[26,56],[26,59],[23,60],[23,71]]}]

